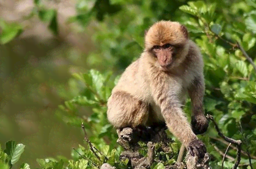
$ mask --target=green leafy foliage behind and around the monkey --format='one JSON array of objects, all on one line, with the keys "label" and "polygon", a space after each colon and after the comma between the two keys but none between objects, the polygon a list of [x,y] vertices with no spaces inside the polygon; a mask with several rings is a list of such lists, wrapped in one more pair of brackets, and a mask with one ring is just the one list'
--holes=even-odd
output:
[{"label": "green leafy foliage behind and around the monkey", "polygon": [[[58,13],[54,8],[46,8],[41,0],[34,2],[35,9],[30,17],[40,18],[58,36]],[[224,135],[243,141],[242,149],[250,153],[253,167],[256,168],[256,72],[237,46],[237,42],[241,43],[256,63],[254,0],[79,0],[76,11],[76,16],[70,17],[67,23],[78,23],[79,28],[74,26],[73,30],[85,34],[89,27],[93,28],[92,41],[97,50],[86,56],[86,63],[94,69],[73,74],[69,82],[72,92],[68,97],[74,98],[61,104],[56,115],[71,126],[81,127],[83,122],[90,141],[103,152],[102,160],[99,161],[87,147],[79,146],[71,152],[73,160],[70,161],[64,157],[38,159],[42,168],[95,168],[103,162],[118,168],[126,166],[127,161],[119,161],[122,149],[116,144],[116,132],[107,121],[106,102],[120,73],[140,56],[145,29],[158,20],[178,21],[188,28],[190,38],[198,44],[204,56],[205,111],[218,121]],[[29,20],[29,17],[26,19]],[[7,23],[4,20],[0,20],[0,28],[2,44],[12,42],[26,29],[20,23]],[[35,75],[41,78],[40,72]],[[188,118],[189,105],[188,99],[185,107]],[[81,113],[84,110],[90,111],[90,115]],[[219,141],[212,124],[207,133],[199,137],[212,155],[213,168],[220,168],[223,157],[215,146],[225,152],[225,142]],[[12,147],[17,147],[15,145]],[[15,153],[15,149],[12,153]],[[0,166],[4,169],[17,160],[12,159],[13,156],[6,151],[1,152]],[[177,154],[177,150],[173,153]],[[236,149],[230,149],[228,155],[236,158]],[[244,165],[239,169],[249,169],[247,154],[242,153],[241,158]],[[167,163],[173,163],[173,159],[176,158],[168,156]],[[226,159],[224,167],[230,168],[233,163]],[[163,164],[166,165],[164,162],[158,163],[152,168],[163,169]],[[22,164],[20,168],[29,169],[29,166]]]}]

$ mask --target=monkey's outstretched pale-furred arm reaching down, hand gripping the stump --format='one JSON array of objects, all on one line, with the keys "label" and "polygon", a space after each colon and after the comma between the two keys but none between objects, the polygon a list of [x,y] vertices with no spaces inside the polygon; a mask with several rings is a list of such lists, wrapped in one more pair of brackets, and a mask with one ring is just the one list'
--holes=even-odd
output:
[{"label": "monkey's outstretched pale-furred arm reaching down, hand gripping the stump", "polygon": [[152,81],[151,89],[154,100],[161,108],[167,127],[190,150],[192,155],[204,157],[206,147],[192,131],[178,99],[179,90],[182,89],[181,83],[175,80],[166,82],[168,80],[163,77],[161,80],[159,78]]}]

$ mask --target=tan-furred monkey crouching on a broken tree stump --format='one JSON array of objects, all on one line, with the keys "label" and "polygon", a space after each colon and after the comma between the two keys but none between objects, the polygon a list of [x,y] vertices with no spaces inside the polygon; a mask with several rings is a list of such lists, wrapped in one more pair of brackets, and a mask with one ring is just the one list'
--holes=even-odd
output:
[{"label": "tan-furred monkey crouching on a broken tree stump", "polygon": [[[144,36],[140,57],[122,73],[107,103],[113,127],[150,127],[165,124],[190,151],[203,158],[207,149],[197,135],[208,128],[204,115],[204,61],[186,27],[161,20]],[[191,124],[183,112],[189,95]]]}]

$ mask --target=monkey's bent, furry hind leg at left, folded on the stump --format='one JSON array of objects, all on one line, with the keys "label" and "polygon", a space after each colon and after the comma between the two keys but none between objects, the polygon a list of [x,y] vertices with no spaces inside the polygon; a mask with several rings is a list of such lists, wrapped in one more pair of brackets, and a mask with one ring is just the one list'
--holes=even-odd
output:
[{"label": "monkey's bent, furry hind leg at left, folded on the stump", "polygon": [[112,93],[108,99],[108,120],[114,127],[131,127],[138,136],[143,136],[148,120],[148,104],[124,91]]}]

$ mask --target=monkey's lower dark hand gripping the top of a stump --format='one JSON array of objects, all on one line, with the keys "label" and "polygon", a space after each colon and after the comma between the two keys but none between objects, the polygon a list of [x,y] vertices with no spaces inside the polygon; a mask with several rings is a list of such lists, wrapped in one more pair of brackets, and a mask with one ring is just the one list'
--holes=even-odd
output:
[{"label": "monkey's lower dark hand gripping the top of a stump", "polygon": [[198,158],[204,158],[206,146],[201,140],[193,140],[189,143],[187,150],[192,156],[197,155]]}]

